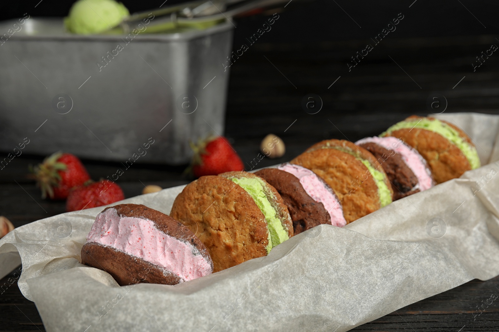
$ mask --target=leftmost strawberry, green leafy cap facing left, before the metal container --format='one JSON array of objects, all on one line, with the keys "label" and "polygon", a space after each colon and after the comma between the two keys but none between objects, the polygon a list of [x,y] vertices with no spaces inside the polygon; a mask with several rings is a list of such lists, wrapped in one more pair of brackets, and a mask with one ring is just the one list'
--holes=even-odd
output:
[{"label": "leftmost strawberry, green leafy cap facing left, before the metal container", "polygon": [[90,180],[81,161],[70,153],[56,152],[32,168],[31,172],[30,177],[41,189],[41,198],[48,196],[53,200],[67,198],[71,188]]}]

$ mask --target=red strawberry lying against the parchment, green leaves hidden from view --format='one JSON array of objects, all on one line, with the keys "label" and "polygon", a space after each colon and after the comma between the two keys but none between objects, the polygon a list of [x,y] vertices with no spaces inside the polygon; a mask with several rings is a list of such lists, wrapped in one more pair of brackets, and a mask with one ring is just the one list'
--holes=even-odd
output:
[{"label": "red strawberry lying against the parchment, green leaves hidden from view", "polygon": [[120,186],[109,180],[100,180],[71,190],[66,201],[66,211],[101,207],[124,199]]}]

